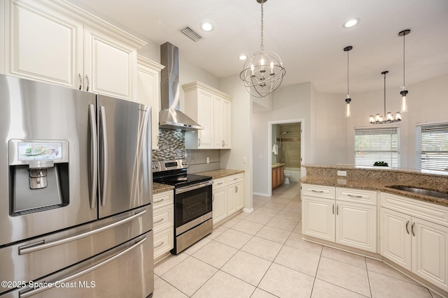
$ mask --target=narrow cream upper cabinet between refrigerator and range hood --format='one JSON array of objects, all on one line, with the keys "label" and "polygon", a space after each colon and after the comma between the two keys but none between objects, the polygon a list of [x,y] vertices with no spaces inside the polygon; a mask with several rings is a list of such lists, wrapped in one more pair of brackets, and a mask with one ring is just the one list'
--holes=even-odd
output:
[{"label": "narrow cream upper cabinet between refrigerator and range hood", "polygon": [[137,56],[137,102],[151,106],[153,150],[159,149],[160,70],[164,66]]}]

